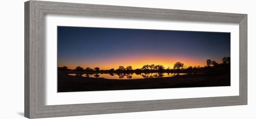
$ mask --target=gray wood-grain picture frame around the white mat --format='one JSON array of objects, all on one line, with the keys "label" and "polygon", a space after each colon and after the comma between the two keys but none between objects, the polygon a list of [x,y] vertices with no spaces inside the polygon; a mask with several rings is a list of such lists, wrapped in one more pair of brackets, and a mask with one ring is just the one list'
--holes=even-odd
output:
[{"label": "gray wood-grain picture frame around the white mat", "polygon": [[[81,15],[125,19],[160,19],[239,24],[239,96],[143,100],[72,105],[45,105],[45,15]],[[49,1],[25,2],[25,117],[47,118],[90,114],[247,105],[247,14],[106,6]]]}]

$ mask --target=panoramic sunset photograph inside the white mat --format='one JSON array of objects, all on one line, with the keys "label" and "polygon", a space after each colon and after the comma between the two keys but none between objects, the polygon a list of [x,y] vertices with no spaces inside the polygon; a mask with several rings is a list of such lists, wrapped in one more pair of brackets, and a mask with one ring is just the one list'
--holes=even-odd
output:
[{"label": "panoramic sunset photograph inside the white mat", "polygon": [[230,86],[230,33],[57,27],[57,92]]}]

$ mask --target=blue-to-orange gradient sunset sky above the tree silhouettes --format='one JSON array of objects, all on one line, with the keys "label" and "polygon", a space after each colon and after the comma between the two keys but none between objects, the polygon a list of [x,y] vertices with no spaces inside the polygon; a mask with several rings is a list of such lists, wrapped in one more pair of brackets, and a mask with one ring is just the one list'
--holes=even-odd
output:
[{"label": "blue-to-orange gradient sunset sky above the tree silhouettes", "polygon": [[204,67],[230,56],[230,33],[58,26],[58,67]]}]

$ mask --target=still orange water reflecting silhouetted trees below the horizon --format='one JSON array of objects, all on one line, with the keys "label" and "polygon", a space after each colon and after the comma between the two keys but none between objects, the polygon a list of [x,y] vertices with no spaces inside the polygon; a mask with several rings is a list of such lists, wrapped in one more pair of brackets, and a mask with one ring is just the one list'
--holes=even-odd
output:
[{"label": "still orange water reflecting silhouetted trees below the horizon", "polygon": [[186,73],[120,73],[120,74],[68,74],[82,77],[105,78],[105,79],[146,79],[146,78],[161,78],[171,77],[174,75],[186,75]]}]

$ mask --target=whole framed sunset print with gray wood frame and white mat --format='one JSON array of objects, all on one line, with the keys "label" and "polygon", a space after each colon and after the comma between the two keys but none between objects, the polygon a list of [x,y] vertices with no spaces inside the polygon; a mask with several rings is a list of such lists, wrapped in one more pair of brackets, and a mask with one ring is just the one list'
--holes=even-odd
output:
[{"label": "whole framed sunset print with gray wood frame and white mat", "polygon": [[25,2],[25,117],[247,105],[247,14]]}]

